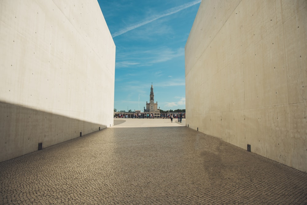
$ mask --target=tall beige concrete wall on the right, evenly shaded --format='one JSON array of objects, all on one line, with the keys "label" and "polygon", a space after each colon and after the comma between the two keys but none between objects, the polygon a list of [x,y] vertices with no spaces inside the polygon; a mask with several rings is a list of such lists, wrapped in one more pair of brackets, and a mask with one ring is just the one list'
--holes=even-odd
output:
[{"label": "tall beige concrete wall on the right, evenly shaded", "polygon": [[186,123],[307,172],[307,1],[202,1],[185,46]]}]

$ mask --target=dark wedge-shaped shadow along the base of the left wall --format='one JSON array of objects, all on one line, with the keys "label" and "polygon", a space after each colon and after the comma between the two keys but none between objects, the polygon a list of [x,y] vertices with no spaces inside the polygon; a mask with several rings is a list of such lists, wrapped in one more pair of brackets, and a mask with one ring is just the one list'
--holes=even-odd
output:
[{"label": "dark wedge-shaped shadow along the base of the left wall", "polygon": [[0,102],[0,162],[106,127]]}]

